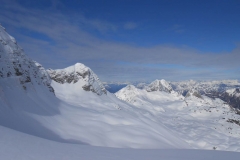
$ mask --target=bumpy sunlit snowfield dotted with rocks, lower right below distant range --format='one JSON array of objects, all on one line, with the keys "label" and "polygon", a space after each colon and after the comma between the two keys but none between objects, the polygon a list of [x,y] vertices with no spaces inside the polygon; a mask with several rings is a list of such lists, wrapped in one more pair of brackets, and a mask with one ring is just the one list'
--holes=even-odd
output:
[{"label": "bumpy sunlit snowfield dotted with rocks, lower right below distant range", "polygon": [[150,112],[149,117],[180,134],[194,148],[240,151],[240,115],[220,99],[200,96],[195,90],[184,98],[134,86],[123,88],[116,96]]}]

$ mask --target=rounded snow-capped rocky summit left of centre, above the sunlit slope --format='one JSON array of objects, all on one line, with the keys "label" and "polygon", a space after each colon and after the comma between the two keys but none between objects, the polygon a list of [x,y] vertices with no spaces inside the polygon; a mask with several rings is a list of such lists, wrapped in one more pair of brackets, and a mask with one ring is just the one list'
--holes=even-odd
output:
[{"label": "rounded snow-capped rocky summit left of centre, above the sunlit slope", "polygon": [[73,66],[65,69],[47,70],[52,80],[55,82],[64,83],[77,83],[78,81],[84,82],[82,88],[85,91],[92,91],[97,95],[107,94],[102,82],[97,75],[84,64],[76,63]]}]

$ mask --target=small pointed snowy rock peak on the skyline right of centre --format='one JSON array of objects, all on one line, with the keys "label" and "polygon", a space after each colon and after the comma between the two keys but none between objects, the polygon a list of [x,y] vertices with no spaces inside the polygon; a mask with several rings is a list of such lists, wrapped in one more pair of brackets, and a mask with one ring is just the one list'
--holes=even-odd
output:
[{"label": "small pointed snowy rock peak on the skyline right of centre", "polygon": [[155,80],[152,83],[150,83],[146,87],[146,91],[148,91],[148,92],[164,91],[164,92],[171,93],[173,91],[173,89],[167,81],[162,79],[162,80]]}]

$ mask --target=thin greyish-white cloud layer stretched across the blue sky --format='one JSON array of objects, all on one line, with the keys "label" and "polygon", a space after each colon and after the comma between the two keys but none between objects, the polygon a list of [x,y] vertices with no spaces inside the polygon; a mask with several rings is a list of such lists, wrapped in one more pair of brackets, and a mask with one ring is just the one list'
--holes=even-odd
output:
[{"label": "thin greyish-white cloud layer stretched across the blue sky", "polygon": [[[57,5],[57,4],[56,4]],[[229,53],[203,53],[186,46],[159,44],[154,47],[139,47],[106,41],[91,34],[117,32],[119,26],[98,19],[87,19],[83,15],[69,17],[60,12],[26,9],[12,1],[0,6],[0,23],[6,25],[26,53],[44,66],[63,68],[83,62],[104,80],[112,79],[224,79],[240,78],[240,47]],[[134,29],[135,23],[126,23],[125,29]],[[172,31],[184,32],[184,26],[175,25]],[[36,32],[50,40],[27,35],[22,30]],[[52,43],[53,42],[53,43]],[[134,66],[121,65],[128,62]],[[174,64],[179,67],[148,67],[146,64]],[[192,70],[188,70],[191,68]],[[229,75],[228,72],[232,74]],[[110,79],[111,77],[111,79]]]}]

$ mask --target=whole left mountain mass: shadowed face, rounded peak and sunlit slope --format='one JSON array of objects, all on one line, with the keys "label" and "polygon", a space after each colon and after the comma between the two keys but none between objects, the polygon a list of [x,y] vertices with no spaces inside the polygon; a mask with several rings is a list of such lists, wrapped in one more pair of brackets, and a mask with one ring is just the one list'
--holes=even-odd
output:
[{"label": "whole left mountain mass: shadowed face, rounded peak and sunlit slope", "polygon": [[83,64],[46,71],[3,27],[0,39],[0,126],[69,144],[191,148],[155,117],[107,92]]}]

